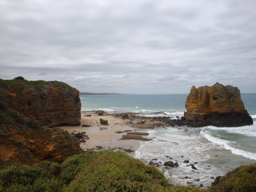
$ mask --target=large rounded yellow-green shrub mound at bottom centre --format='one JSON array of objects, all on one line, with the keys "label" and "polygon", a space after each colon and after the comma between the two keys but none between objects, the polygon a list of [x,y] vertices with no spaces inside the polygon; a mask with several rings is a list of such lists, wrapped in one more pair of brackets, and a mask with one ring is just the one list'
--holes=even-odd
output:
[{"label": "large rounded yellow-green shrub mound at bottom centre", "polygon": [[169,187],[167,179],[156,168],[146,166],[122,152],[100,151],[66,190],[159,191],[166,187]]}]

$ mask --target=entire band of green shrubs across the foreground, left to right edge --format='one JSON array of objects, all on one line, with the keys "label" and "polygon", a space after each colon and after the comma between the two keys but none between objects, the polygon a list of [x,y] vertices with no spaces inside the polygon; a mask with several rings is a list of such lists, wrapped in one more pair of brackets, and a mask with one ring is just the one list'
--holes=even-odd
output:
[{"label": "entire band of green shrubs across the foreground, left to right edge", "polygon": [[256,191],[256,164],[241,166],[208,189],[171,186],[154,166],[118,151],[88,151],[62,164],[44,161],[33,166],[0,169],[0,192],[244,192]]}]

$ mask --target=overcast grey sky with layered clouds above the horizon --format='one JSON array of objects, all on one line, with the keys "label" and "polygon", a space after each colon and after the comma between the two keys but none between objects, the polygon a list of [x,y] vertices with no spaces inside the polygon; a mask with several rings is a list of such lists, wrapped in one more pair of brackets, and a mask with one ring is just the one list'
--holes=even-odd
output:
[{"label": "overcast grey sky with layered clouds above the horizon", "polygon": [[256,93],[255,0],[0,0],[0,78],[80,92]]}]

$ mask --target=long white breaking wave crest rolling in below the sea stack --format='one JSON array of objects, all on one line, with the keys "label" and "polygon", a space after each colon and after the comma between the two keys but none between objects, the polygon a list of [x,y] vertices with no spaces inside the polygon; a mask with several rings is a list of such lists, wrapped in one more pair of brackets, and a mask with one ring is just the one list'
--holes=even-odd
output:
[{"label": "long white breaking wave crest rolling in below the sea stack", "polygon": [[213,137],[213,136],[205,133],[203,130],[204,129],[202,129],[202,131],[200,133],[203,135],[203,137],[205,137],[210,142],[213,142],[215,144],[223,146],[226,150],[230,150],[233,154],[242,155],[243,157],[247,157],[249,159],[256,160],[256,153],[250,153],[248,151],[243,151],[243,150],[234,148],[234,147],[230,146],[229,141]]}]

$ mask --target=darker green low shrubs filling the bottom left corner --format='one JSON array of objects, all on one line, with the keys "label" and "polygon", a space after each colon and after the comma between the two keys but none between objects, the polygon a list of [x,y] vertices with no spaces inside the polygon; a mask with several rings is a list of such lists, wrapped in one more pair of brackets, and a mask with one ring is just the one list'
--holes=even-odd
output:
[{"label": "darker green low shrubs filling the bottom left corner", "polygon": [[[52,162],[42,162],[33,166],[5,166],[0,170],[0,189],[12,192],[59,192],[62,183],[55,177],[53,172],[49,173],[46,167],[58,170],[58,165]],[[59,166],[60,168],[60,166]],[[53,169],[53,170],[55,170]],[[0,190],[1,191],[1,190]]]}]

